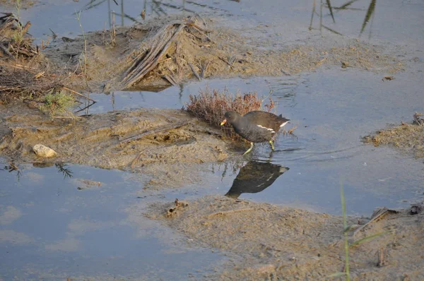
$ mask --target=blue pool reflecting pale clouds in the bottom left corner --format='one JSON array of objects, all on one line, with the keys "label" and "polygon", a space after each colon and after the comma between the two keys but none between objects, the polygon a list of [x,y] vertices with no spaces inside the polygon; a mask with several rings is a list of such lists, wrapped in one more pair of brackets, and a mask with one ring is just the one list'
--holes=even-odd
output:
[{"label": "blue pool reflecting pale clouds in the bottom left corner", "polygon": [[[193,268],[205,273],[222,261],[221,254],[182,246],[187,239],[141,213],[143,202],[172,202],[190,193],[141,194],[142,183],[133,174],[114,170],[66,165],[71,177],[65,177],[55,166],[28,164],[9,172],[0,163],[3,280],[187,280],[189,274],[199,277]],[[86,186],[83,180],[101,185]]]}]

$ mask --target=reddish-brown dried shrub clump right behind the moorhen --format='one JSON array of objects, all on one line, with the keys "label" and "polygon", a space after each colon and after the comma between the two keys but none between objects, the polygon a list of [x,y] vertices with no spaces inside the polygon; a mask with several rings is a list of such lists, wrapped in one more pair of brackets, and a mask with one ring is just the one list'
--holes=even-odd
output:
[{"label": "reddish-brown dried shrub clump right behind the moorhen", "polygon": [[[194,114],[199,119],[203,119],[211,126],[220,126],[223,121],[225,112],[233,110],[239,114],[246,114],[254,110],[261,110],[263,100],[259,99],[256,92],[248,92],[232,95],[228,90],[219,92],[218,90],[201,90],[199,95],[190,95],[189,102],[186,104],[187,112]],[[271,112],[275,106],[271,97],[269,97],[269,104],[265,104],[265,110]],[[232,126],[222,127],[225,135],[232,139],[240,139]]]}]

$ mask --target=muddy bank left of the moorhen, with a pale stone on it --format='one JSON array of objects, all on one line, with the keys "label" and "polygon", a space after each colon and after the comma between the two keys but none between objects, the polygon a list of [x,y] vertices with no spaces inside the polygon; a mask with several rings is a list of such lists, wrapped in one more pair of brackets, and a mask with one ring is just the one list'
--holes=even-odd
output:
[{"label": "muddy bank left of the moorhen, with a pale stone on it", "polygon": [[[4,107],[1,106],[0,107]],[[1,116],[2,115],[2,116]],[[25,107],[1,111],[0,151],[19,162],[72,162],[140,172],[150,186],[189,184],[204,163],[229,157],[221,132],[175,109],[108,112],[78,119],[50,119]],[[42,159],[42,143],[58,155]]]}]

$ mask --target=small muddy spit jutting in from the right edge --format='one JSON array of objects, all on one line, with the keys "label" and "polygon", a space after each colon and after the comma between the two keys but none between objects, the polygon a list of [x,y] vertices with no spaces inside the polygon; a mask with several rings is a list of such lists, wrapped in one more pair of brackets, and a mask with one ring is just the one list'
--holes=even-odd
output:
[{"label": "small muddy spit jutting in from the right edge", "polygon": [[400,126],[377,131],[374,136],[365,136],[363,141],[375,146],[390,145],[416,158],[424,158],[424,126],[420,115],[415,118],[417,121],[412,124],[402,122]]}]

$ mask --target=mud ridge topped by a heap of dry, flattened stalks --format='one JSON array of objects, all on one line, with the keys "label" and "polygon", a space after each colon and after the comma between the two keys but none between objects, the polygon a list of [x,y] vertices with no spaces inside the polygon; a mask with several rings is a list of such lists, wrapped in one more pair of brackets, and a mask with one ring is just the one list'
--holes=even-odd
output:
[{"label": "mud ridge topped by a heap of dry, flattened stalks", "polygon": [[[85,51],[85,40],[87,52]],[[143,25],[54,40],[44,54],[57,71],[80,73],[73,88],[92,92],[160,89],[189,79],[281,76],[323,65],[396,73],[404,65],[384,48],[328,37],[283,48],[212,19],[155,18]],[[78,78],[78,79],[77,79]]]}]

